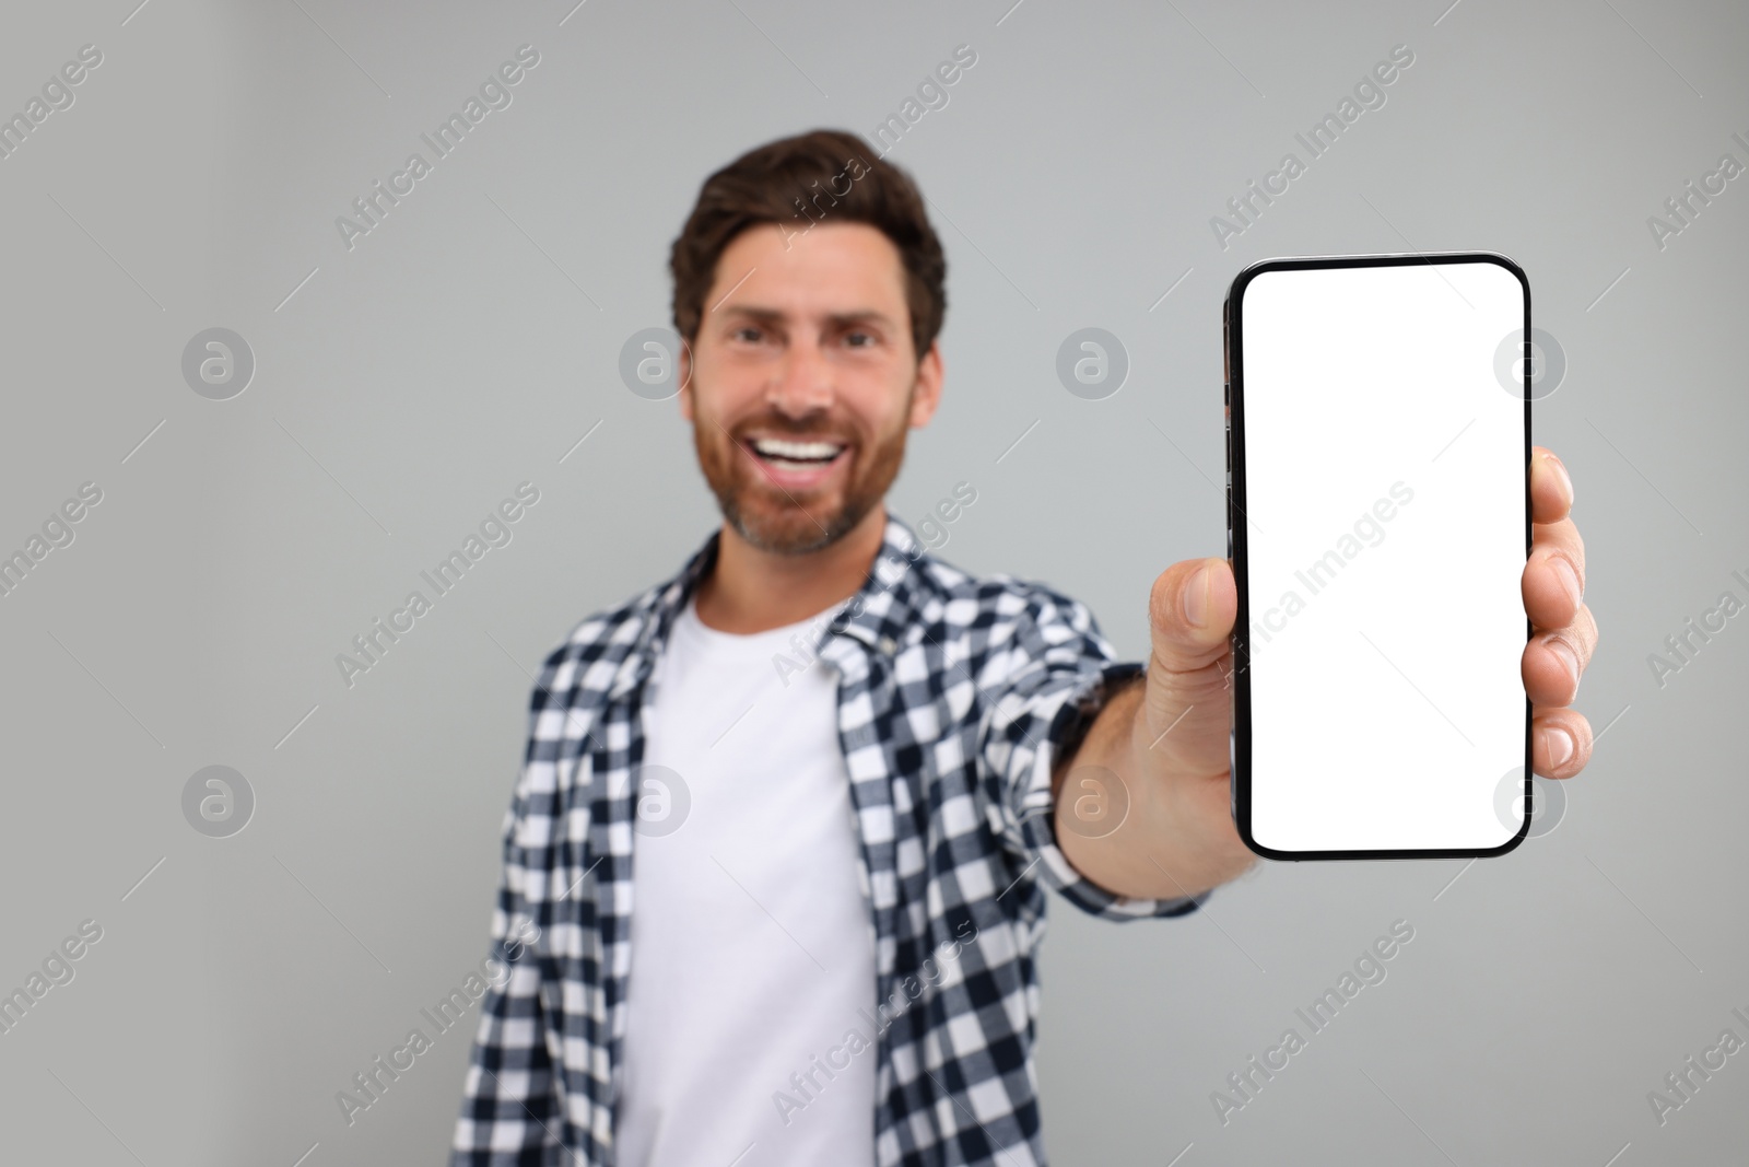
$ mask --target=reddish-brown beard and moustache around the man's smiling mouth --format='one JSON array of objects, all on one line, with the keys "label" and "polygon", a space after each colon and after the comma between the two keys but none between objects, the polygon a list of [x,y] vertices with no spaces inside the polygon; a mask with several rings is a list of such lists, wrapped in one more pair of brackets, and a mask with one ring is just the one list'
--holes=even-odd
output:
[{"label": "reddish-brown beard and moustache around the man's smiling mouth", "polygon": [[880,504],[899,478],[906,418],[911,415],[915,392],[913,388],[906,394],[897,429],[876,436],[871,444],[845,432],[843,427],[796,422],[780,413],[745,422],[743,434],[757,430],[770,436],[826,437],[845,443],[845,451],[838,457],[847,460],[847,471],[834,471],[834,478],[843,478],[843,486],[827,481],[801,492],[787,490],[768,478],[742,437],[724,432],[714,418],[694,415],[693,446],[698,450],[698,465],[710,492],[717,495],[724,521],[749,544],[771,555],[808,555],[843,539]]}]

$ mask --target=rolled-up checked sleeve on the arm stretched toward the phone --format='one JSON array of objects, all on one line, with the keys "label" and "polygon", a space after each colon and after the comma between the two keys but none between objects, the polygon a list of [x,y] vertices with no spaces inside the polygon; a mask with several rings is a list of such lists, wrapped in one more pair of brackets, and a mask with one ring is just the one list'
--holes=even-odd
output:
[{"label": "rolled-up checked sleeve on the arm stretched toward the phone", "polygon": [[[1195,912],[1212,891],[1172,899],[1116,896],[1083,877],[1056,845],[1051,768],[1079,747],[1105,700],[1144,667],[1116,661],[1079,600],[1037,588],[1007,646],[1011,667],[986,689],[978,756],[993,784],[997,833],[1018,880],[1042,880],[1072,905],[1112,920]],[[1067,791],[1067,784],[1065,784]]]}]

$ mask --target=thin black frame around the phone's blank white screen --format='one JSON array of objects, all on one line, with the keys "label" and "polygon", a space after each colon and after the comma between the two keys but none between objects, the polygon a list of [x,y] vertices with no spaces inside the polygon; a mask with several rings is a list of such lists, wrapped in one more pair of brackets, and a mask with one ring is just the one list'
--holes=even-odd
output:
[{"label": "thin black frame around the phone's blank white screen", "polygon": [[[1518,833],[1499,847],[1424,847],[1424,849],[1364,849],[1364,850],[1279,850],[1265,847],[1251,833],[1251,597],[1249,576],[1249,532],[1245,530],[1245,362],[1244,362],[1244,299],[1245,287],[1266,271],[1300,271],[1322,268],[1401,268],[1425,262],[1466,264],[1487,262],[1506,268],[1518,278],[1525,294],[1523,320],[1523,432],[1525,432],[1525,560],[1530,558],[1530,390],[1532,390],[1532,339],[1530,339],[1530,280],[1523,268],[1499,252],[1394,252],[1382,255],[1298,255],[1284,259],[1265,259],[1251,264],[1233,276],[1226,301],[1221,304],[1221,336],[1226,357],[1226,385],[1223,397],[1226,404],[1226,555],[1233,569],[1233,581],[1238,584],[1238,612],[1233,618],[1231,651],[1233,670],[1228,677],[1231,689],[1231,733],[1228,738],[1228,761],[1231,773],[1231,812],[1238,836],[1252,852],[1265,859],[1492,859],[1518,847],[1530,833],[1530,805],[1534,798],[1532,758],[1530,758],[1530,698],[1525,696],[1525,791],[1523,822]],[[1530,618],[1525,616],[1525,644],[1530,642]]]}]

